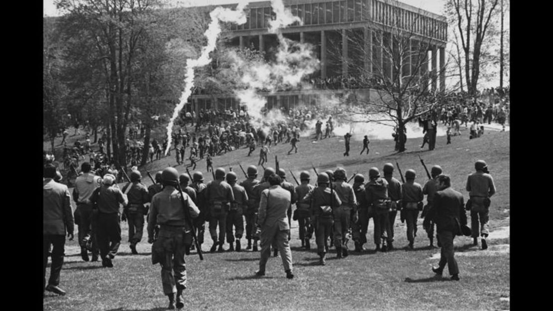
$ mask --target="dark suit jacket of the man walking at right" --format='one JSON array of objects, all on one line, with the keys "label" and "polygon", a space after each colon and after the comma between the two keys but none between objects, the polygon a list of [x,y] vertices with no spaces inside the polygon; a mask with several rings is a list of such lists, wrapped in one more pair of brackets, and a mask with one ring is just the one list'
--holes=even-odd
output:
[{"label": "dark suit jacket of the man walking at right", "polygon": [[447,187],[436,192],[434,204],[429,209],[424,221],[426,224],[434,221],[437,232],[451,231],[453,234],[462,235],[461,228],[457,224],[467,224],[464,206],[463,195],[451,187]]}]

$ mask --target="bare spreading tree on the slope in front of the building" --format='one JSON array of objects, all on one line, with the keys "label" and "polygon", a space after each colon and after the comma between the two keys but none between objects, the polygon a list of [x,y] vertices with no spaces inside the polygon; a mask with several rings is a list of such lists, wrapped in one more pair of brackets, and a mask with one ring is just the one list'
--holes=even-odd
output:
[{"label": "bare spreading tree on the slope in front of the building", "polygon": [[[438,76],[428,70],[428,51],[435,45],[429,37],[421,37],[415,31],[419,22],[401,20],[399,8],[392,9],[392,18],[377,29],[362,31],[347,30],[348,50],[342,55],[341,40],[331,46],[330,53],[337,55],[347,66],[350,75],[359,77],[361,87],[371,87],[377,99],[348,90],[347,97],[357,102],[357,106],[347,108],[347,118],[353,122],[377,122],[396,129],[399,152],[405,151],[405,125],[432,112],[446,100],[447,93],[437,89]],[[424,14],[419,12],[418,16]],[[437,37],[437,29],[429,29]],[[363,31],[372,32],[372,49],[365,44]],[[360,66],[368,61],[366,66]],[[437,60],[436,60],[437,61]],[[438,71],[446,71],[444,68]],[[450,90],[452,91],[452,90]],[[366,92],[366,91],[363,91]],[[361,117],[361,120],[359,120]]]}]

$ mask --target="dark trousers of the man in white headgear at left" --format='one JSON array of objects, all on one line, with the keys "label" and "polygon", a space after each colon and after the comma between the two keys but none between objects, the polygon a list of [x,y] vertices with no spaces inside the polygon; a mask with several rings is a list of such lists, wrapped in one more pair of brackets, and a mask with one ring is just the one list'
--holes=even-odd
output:
[{"label": "dark trousers of the man in white headgear at left", "polygon": [[117,255],[121,245],[121,226],[119,225],[119,213],[98,213],[97,241],[100,248],[100,256],[111,258]]}]

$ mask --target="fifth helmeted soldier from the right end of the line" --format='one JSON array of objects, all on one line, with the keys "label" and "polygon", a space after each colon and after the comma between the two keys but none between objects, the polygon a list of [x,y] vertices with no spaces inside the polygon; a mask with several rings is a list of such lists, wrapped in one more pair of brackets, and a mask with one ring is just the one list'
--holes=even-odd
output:
[{"label": "fifth helmeted soldier from the right end of the line", "polygon": [[[374,243],[376,250],[386,251],[386,242],[392,242],[389,226],[390,198],[388,197],[388,182],[380,178],[378,168],[369,169],[369,182],[365,185],[365,195],[368,204],[374,211]],[[382,248],[380,242],[382,241]]]}]

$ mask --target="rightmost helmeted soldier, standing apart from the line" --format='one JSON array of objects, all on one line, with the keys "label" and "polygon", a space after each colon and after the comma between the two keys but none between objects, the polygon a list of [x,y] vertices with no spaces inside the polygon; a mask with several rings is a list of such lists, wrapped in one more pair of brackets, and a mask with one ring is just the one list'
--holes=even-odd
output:
[{"label": "rightmost helmeted soldier, standing apart from the line", "polygon": [[[488,248],[489,199],[495,193],[492,175],[488,165],[483,160],[474,163],[475,173],[468,175],[467,191],[470,196],[468,210],[471,211],[471,227],[473,245],[478,245],[478,235],[482,236],[482,250]],[[480,234],[478,234],[480,233]]]}]

